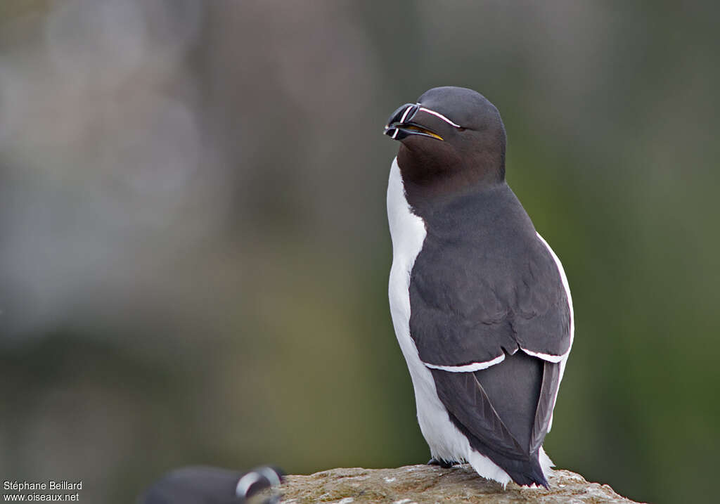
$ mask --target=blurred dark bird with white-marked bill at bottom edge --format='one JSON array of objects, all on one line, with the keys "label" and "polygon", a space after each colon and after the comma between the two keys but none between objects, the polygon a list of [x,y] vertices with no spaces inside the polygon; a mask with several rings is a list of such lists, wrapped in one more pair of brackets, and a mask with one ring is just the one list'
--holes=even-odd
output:
[{"label": "blurred dark bird with white-marked bill at bottom edge", "polygon": [[280,485],[284,472],[262,466],[241,472],[210,466],[174,469],[153,482],[137,500],[138,504],[276,504],[279,495],[258,492]]}]

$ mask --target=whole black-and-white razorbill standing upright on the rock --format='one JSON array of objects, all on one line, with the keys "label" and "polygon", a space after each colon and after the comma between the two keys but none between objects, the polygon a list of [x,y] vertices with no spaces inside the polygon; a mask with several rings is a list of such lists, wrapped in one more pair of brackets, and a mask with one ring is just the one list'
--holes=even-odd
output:
[{"label": "whole black-and-white razorbill standing upright on the rock", "polygon": [[392,113],[388,294],[428,464],[549,488],[542,444],[575,333],[557,255],[505,181],[505,126],[472,89]]}]

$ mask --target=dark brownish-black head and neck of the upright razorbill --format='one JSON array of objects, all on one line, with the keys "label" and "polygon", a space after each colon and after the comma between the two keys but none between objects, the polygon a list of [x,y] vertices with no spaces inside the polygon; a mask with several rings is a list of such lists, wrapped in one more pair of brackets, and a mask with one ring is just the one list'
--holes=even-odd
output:
[{"label": "dark brownish-black head and neck of the upright razorbill", "polygon": [[[472,89],[444,86],[395,110],[385,135],[417,197],[437,197],[505,179],[505,126],[495,105]],[[413,204],[413,202],[410,202]]]}]

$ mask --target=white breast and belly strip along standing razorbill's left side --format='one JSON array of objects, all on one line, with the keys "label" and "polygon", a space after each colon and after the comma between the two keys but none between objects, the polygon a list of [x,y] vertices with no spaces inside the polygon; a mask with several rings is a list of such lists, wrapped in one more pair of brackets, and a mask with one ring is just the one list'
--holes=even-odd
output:
[{"label": "white breast and belly strip along standing razorbill's left side", "polygon": [[423,248],[426,237],[425,222],[410,212],[405,198],[397,158],[392,161],[387,184],[387,219],[392,238],[392,269],[390,269],[390,313],[400,349],[408,362],[415,388],[420,431],[430,446],[433,457],[448,461],[467,461],[482,477],[506,485],[508,474],[487,457],[470,447],[467,438],[451,423],[438,398],[430,370],[420,361],[415,341],[410,338],[410,271]]}]

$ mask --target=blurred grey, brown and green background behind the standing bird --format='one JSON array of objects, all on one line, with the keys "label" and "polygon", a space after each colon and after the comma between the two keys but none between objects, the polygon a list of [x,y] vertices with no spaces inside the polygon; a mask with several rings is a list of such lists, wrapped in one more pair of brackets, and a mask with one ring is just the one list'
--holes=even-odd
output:
[{"label": "blurred grey, brown and green background behind the standing bird", "polygon": [[477,89],[577,333],[546,449],[710,503],[714,2],[5,0],[0,478],[426,462],[387,307],[387,116]]}]

